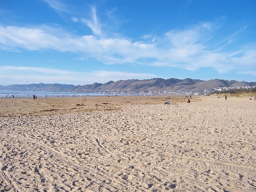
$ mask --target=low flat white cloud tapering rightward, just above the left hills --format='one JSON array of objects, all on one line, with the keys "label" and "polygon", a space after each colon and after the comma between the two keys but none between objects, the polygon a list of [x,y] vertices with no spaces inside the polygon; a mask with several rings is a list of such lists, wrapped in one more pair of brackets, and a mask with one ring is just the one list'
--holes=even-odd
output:
[{"label": "low flat white cloud tapering rightward, just above the left hills", "polygon": [[[92,84],[118,81],[120,79],[148,79],[156,77],[156,74],[141,74],[116,71],[96,70],[93,72],[70,72],[40,67],[15,67],[1,66],[0,82],[2,85],[26,84],[26,83],[56,83],[65,84]],[[86,77],[86,78],[84,78]]]}]

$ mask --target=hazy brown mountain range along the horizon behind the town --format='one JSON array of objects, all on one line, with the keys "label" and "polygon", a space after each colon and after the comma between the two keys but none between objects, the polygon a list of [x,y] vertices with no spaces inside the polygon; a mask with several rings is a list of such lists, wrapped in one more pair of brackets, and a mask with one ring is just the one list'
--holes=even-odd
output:
[{"label": "hazy brown mountain range along the horizon behind the town", "polygon": [[34,92],[204,92],[220,87],[247,87],[256,86],[256,82],[211,79],[128,79],[109,81],[108,83],[93,83],[75,86],[73,84],[12,84],[0,85],[1,92],[34,91]]}]

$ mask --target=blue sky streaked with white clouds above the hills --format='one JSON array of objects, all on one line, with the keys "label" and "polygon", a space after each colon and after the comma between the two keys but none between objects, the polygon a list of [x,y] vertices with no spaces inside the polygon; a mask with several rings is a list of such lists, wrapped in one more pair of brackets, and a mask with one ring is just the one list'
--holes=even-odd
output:
[{"label": "blue sky streaked with white clouds above the hills", "polygon": [[0,84],[256,81],[256,1],[1,0]]}]

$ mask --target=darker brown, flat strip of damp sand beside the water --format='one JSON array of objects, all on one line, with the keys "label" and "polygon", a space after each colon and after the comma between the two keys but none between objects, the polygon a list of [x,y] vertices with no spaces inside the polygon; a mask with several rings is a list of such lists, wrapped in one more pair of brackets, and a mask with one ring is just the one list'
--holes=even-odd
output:
[{"label": "darker brown, flat strip of damp sand beside the water", "polygon": [[[194,99],[200,100],[199,98]],[[131,104],[163,104],[166,96],[122,97],[49,97],[49,98],[4,98],[0,99],[0,116],[41,116],[88,111],[122,109]],[[170,102],[184,102],[184,97],[170,96]]]}]

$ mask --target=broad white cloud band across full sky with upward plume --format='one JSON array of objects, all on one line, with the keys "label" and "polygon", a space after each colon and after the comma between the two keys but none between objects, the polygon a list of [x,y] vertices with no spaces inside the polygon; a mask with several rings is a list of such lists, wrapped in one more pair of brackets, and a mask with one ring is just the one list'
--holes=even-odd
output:
[{"label": "broad white cloud band across full sky with upward plume", "polygon": [[[221,51],[223,44],[208,42],[214,36],[212,35],[214,24],[211,23],[203,23],[184,30],[168,31],[163,37],[159,37],[155,44],[148,41],[153,35],[145,35],[140,38],[140,41],[104,37],[95,6],[92,8],[92,20],[83,19],[83,22],[90,26],[94,35],[75,36],[49,26],[34,28],[0,26],[0,45],[2,49],[10,51],[45,49],[74,52],[79,54],[78,60],[81,58],[86,60],[90,57],[108,65],[131,63],[132,65],[179,67],[186,70],[212,67],[220,73],[230,70],[239,72],[243,71],[244,67],[247,71],[255,70],[255,47],[244,48],[243,46],[237,47],[234,51]],[[231,38],[227,38],[227,42],[230,42],[228,44],[232,44],[234,38],[245,29],[234,32]],[[220,49],[216,49],[216,46]]]}]

